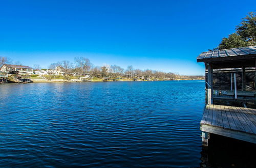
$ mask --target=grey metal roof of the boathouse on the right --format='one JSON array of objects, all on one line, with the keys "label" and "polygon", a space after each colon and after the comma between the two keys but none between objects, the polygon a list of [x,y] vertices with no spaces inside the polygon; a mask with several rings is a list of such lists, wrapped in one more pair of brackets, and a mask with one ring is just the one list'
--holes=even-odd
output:
[{"label": "grey metal roof of the boathouse on the right", "polygon": [[254,54],[254,55],[256,54],[256,46],[202,52],[197,57],[197,61],[203,62],[205,61],[205,59],[238,57],[238,56],[245,56],[245,55],[251,55],[251,54]]}]

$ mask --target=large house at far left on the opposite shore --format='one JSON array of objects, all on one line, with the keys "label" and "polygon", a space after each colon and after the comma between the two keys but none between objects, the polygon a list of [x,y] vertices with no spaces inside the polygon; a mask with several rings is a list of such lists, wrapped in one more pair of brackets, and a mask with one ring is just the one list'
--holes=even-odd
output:
[{"label": "large house at far left on the opposite shore", "polygon": [[11,64],[4,64],[1,69],[2,72],[13,72],[16,71],[18,74],[21,75],[31,75],[33,74],[33,68],[29,66],[24,66],[24,65],[11,65]]}]

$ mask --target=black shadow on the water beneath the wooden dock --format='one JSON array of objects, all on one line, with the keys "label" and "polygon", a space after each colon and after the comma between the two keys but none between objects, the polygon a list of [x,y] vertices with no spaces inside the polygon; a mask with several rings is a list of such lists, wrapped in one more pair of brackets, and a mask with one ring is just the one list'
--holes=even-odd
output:
[{"label": "black shadow on the water beneath the wooden dock", "polygon": [[256,144],[210,134],[208,149],[202,148],[201,167],[255,167]]}]

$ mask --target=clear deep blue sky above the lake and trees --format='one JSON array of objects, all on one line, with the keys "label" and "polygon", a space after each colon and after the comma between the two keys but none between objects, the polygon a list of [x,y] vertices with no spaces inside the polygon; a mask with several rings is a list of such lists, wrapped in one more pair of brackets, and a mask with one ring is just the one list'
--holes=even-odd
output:
[{"label": "clear deep blue sky above the lake and trees", "polygon": [[43,68],[79,56],[203,75],[196,57],[255,8],[256,1],[1,1],[0,56]]}]

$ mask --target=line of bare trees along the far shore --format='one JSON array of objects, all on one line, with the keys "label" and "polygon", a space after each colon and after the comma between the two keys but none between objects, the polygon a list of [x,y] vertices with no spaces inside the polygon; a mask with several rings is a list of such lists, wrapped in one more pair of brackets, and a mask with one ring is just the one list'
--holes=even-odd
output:
[{"label": "line of bare trees along the far shore", "polygon": [[[22,65],[20,62],[13,62],[9,58],[0,57],[0,67],[2,67],[4,64]],[[57,63],[52,63],[48,66],[48,69],[54,70],[56,67],[61,67],[61,70],[65,72],[66,76],[74,75],[74,74],[79,76],[84,76],[86,74],[90,74],[93,77],[99,77],[99,78],[102,78],[102,77],[116,78],[121,76],[125,76],[128,78],[139,78],[143,76],[144,79],[148,79],[148,78],[191,79],[193,78],[193,76],[179,75],[178,73],[172,73],[172,72],[166,73],[166,72],[151,70],[151,69],[145,69],[145,70],[136,69],[136,68],[133,68],[133,66],[131,65],[127,66],[126,69],[118,65],[94,66],[88,58],[84,58],[84,57],[76,57],[74,59],[74,62],[64,60]],[[38,64],[35,64],[33,66],[33,69],[47,70],[47,69],[42,69],[41,66]]]}]

